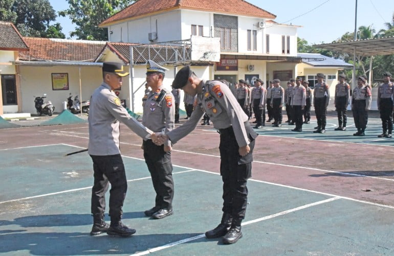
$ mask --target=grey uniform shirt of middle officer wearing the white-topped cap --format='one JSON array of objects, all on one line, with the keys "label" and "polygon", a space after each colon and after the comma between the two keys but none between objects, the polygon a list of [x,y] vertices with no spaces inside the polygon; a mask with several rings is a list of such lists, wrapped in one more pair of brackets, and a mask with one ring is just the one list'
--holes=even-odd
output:
[{"label": "grey uniform shirt of middle officer wearing the white-topped cap", "polygon": [[169,89],[161,86],[157,91],[149,92],[143,108],[142,124],[154,132],[167,133],[174,128],[174,117],[174,97]]}]

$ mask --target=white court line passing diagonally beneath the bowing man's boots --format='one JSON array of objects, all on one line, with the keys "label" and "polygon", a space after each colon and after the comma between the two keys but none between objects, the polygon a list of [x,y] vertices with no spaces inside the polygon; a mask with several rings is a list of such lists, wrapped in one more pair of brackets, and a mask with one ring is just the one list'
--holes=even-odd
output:
[{"label": "white court line passing diagonally beneath the bowing man's boots", "polygon": [[[340,199],[340,198],[339,197],[333,197],[333,198],[329,198],[329,199],[326,199],[326,200],[322,200],[322,201],[318,201],[318,202],[314,202],[314,203],[310,203],[310,204],[305,204],[305,205],[302,205],[302,206],[299,206],[299,207],[296,207],[296,208],[292,208],[290,210],[286,210],[286,211],[283,211],[283,212],[280,212],[280,213],[276,213],[276,214],[272,214],[272,215],[269,215],[269,216],[266,216],[266,217],[262,217],[262,218],[258,218],[258,219],[254,219],[254,220],[250,220],[250,221],[244,222],[244,223],[242,223],[242,226],[246,226],[246,225],[249,225],[249,224],[252,224],[252,223],[256,223],[256,222],[260,222],[260,221],[263,221],[263,220],[272,219],[272,218],[275,218],[275,217],[278,217],[278,216],[281,216],[281,215],[285,215],[285,214],[288,214],[288,213],[293,213],[293,212],[300,211],[300,210],[308,208],[308,207],[312,207],[312,206],[315,206],[315,205],[331,202],[331,201],[338,200],[338,199]],[[195,236],[195,237],[183,239],[183,240],[180,240],[180,241],[177,241],[177,242],[173,242],[173,243],[169,243],[169,244],[166,244],[166,245],[162,245],[162,246],[158,246],[158,247],[155,247],[155,248],[151,248],[151,249],[148,249],[148,250],[145,250],[145,251],[141,251],[141,252],[138,252],[138,253],[131,254],[130,256],[146,255],[146,254],[149,254],[149,253],[152,253],[152,252],[157,252],[157,251],[160,251],[160,250],[164,250],[164,249],[167,249],[167,248],[179,245],[179,244],[184,244],[184,243],[187,243],[187,242],[190,242],[190,241],[193,241],[193,240],[197,240],[197,239],[200,239],[200,238],[203,238],[203,237],[205,237],[205,234],[201,234],[199,236]]]}]

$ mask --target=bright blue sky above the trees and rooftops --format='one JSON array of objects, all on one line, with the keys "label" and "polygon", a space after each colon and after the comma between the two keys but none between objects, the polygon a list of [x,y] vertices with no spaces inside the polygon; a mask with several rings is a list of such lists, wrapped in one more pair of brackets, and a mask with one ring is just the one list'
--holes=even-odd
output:
[{"label": "bright blue sky above the trees and rooftops", "polygon": [[[214,0],[212,0],[214,1]],[[392,0],[358,0],[357,28],[373,25],[378,32],[384,22],[392,21],[394,5]],[[67,9],[67,0],[49,0],[55,11]],[[356,0],[249,0],[247,1],[276,15],[279,23],[302,26],[298,37],[308,43],[332,42],[355,27]],[[67,17],[57,17],[66,37],[75,25]]]}]

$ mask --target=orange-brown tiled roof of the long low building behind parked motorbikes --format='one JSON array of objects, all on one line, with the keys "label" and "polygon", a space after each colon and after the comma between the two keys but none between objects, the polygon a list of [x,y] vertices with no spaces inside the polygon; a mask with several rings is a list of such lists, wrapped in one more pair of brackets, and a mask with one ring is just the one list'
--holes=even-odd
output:
[{"label": "orange-brown tiled roof of the long low building behind parked motorbikes", "polygon": [[30,52],[19,52],[20,60],[93,61],[106,42],[24,37]]}]

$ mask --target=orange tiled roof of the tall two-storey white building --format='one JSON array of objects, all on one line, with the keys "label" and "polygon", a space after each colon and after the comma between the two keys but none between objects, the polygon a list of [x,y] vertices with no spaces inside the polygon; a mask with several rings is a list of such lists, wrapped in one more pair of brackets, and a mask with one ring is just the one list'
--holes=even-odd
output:
[{"label": "orange tiled roof of the tall two-storey white building", "polygon": [[274,14],[244,0],[139,0],[107,18],[100,26],[170,9],[193,9],[270,19],[276,18]]}]

